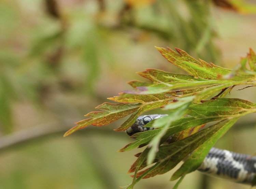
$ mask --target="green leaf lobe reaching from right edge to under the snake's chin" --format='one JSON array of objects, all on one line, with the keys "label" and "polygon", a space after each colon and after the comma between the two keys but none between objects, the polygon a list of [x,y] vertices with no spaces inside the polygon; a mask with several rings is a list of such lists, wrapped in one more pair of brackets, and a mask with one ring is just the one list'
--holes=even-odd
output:
[{"label": "green leaf lobe reaching from right edge to under the snake's chin", "polygon": [[[256,104],[241,100],[241,99],[225,99],[216,98],[215,100],[205,101],[202,104],[191,104],[187,108],[187,114],[193,117],[179,118],[168,125],[168,129],[163,138],[168,138],[169,136],[186,130],[191,127],[196,127],[198,125],[203,125],[208,122],[229,119],[230,117],[239,118],[245,114],[252,113],[256,111]],[[153,121],[153,125],[156,121],[162,122],[164,125],[166,121],[161,121],[165,119],[170,119],[169,116],[160,118]],[[157,125],[160,127],[161,124]],[[151,126],[151,125],[150,125]],[[161,130],[152,130],[142,133],[136,133],[132,137],[137,140],[126,145],[124,148],[120,149],[119,152],[132,150],[139,145],[152,140],[155,136],[159,134]],[[138,158],[140,161],[140,157]],[[133,166],[132,166],[133,167]],[[134,170],[134,168],[132,169]]]}]

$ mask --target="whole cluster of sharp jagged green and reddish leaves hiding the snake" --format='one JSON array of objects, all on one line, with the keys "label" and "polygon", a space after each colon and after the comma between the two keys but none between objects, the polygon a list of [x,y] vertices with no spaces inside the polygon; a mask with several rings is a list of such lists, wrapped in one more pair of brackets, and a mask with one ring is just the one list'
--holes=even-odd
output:
[{"label": "whole cluster of sharp jagged green and reddish leaves hiding the snake", "polygon": [[[255,103],[225,98],[236,85],[255,86],[256,55],[252,49],[235,69],[230,70],[201,59],[196,60],[181,49],[175,52],[170,48],[156,48],[170,63],[185,70],[188,75],[157,69],[138,72],[149,82],[129,82],[133,90],[109,98],[118,104],[103,103],[96,107],[102,111],[85,115],[90,118],[77,122],[64,135],[70,135],[90,124],[107,125],[131,114],[115,129],[124,131],[145,111],[160,107],[169,110],[168,116],[146,125],[158,129],[134,134],[131,138],[136,140],[119,150],[130,151],[148,144],[148,148],[136,155],[138,159],[129,170],[134,175],[128,188],[132,188],[142,178],[166,173],[184,160],[184,164],[171,177],[171,180],[182,180],[187,173],[200,166],[217,139],[241,116],[256,112]],[[207,123],[210,126],[199,130]],[[171,141],[168,140],[170,136],[173,136]]]}]

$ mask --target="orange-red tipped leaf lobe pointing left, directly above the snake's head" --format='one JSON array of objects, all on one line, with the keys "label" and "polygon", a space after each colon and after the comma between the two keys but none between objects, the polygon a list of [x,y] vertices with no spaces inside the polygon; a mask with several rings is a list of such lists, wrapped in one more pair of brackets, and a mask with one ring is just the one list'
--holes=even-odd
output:
[{"label": "orange-red tipped leaf lobe pointing left, directly above the snake's head", "polygon": [[[64,136],[68,136],[73,132],[84,128],[88,125],[96,125],[103,126],[113,121],[116,121],[120,118],[126,117],[129,114],[137,111],[136,114],[133,114],[129,120],[127,120],[124,124],[118,127],[115,131],[124,131],[129,128],[133,124],[133,120],[135,121],[136,116],[139,114],[162,107],[168,104],[168,101],[173,99],[172,97],[166,96],[166,94],[171,93],[162,93],[159,95],[142,95],[142,96],[134,96],[134,95],[124,95],[123,99],[118,99],[118,97],[110,98],[111,100],[122,101],[122,102],[143,102],[143,103],[119,103],[119,104],[111,104],[111,103],[103,103],[100,106],[97,106],[97,109],[104,111],[94,111],[85,115],[87,117],[91,117],[89,119],[85,119],[77,122],[76,126],[71,128],[69,131],[65,133]],[[120,96],[122,98],[122,95]]]}]

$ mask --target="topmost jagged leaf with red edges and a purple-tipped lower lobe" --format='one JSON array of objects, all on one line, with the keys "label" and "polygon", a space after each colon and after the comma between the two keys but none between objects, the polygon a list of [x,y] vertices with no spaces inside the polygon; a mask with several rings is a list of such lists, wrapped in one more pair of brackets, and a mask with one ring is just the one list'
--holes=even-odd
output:
[{"label": "topmost jagged leaf with red edges and a purple-tipped lower lobe", "polygon": [[[229,69],[216,66],[212,63],[208,64],[201,59],[197,61],[195,58],[179,49],[176,49],[178,53],[169,48],[167,50],[157,47],[157,49],[168,59],[169,62],[175,66],[181,67],[190,75],[175,75],[174,73],[164,72],[161,70],[147,69],[147,71],[138,73],[151,80],[151,83],[132,81],[129,84],[137,90],[126,90],[124,91],[125,93],[134,95],[152,95],[156,93],[164,93],[177,88],[207,84],[210,84],[208,87],[210,90],[213,85],[223,84],[223,88],[225,88],[242,83],[245,84],[245,82],[254,81],[256,79],[256,72],[242,72],[241,70],[234,70],[231,72]],[[253,52],[251,52],[251,54],[252,57],[254,57]],[[247,59],[248,58],[246,58],[246,60]],[[217,90],[215,92],[217,92]],[[211,92],[207,91],[207,94],[201,96],[201,99],[198,99],[197,102],[209,97],[210,94]]]}]

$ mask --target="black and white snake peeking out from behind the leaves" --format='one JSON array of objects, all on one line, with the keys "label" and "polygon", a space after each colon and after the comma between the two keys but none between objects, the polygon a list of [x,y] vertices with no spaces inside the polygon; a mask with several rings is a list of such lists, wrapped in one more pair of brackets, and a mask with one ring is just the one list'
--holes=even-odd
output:
[{"label": "black and white snake peeking out from behind the leaves", "polygon": [[[154,130],[154,127],[144,127],[144,125],[164,116],[167,115],[152,114],[139,116],[133,125],[126,130],[126,133],[132,136],[135,133]],[[197,170],[210,176],[228,179],[237,183],[254,185],[256,157],[213,147]]]}]

